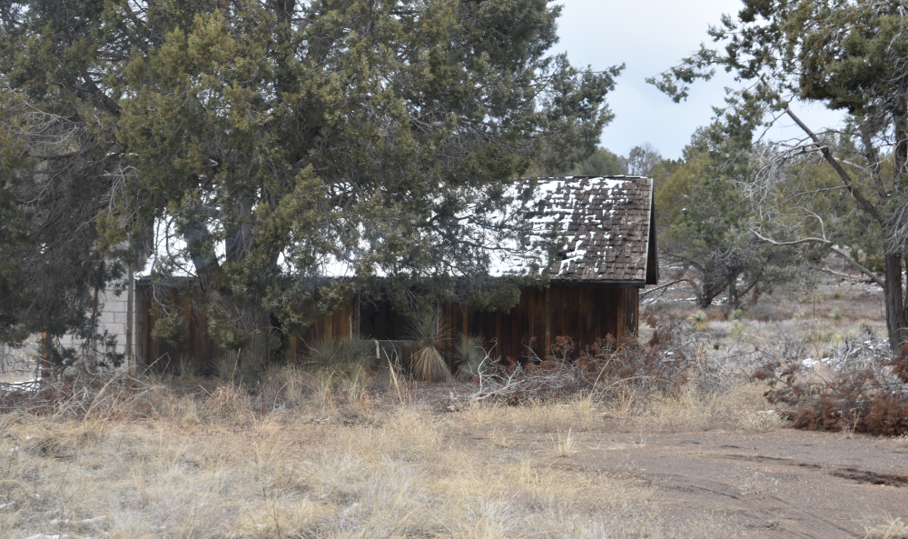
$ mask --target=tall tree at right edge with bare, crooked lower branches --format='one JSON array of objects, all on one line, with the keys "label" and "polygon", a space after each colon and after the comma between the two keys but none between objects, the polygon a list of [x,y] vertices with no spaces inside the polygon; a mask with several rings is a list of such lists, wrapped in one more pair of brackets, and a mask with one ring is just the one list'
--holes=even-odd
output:
[{"label": "tall tree at right edge with bare, crooked lower branches", "polygon": [[[816,188],[798,190],[789,174],[805,159],[819,158],[834,170],[836,185],[854,200],[875,243],[883,250],[886,324],[893,351],[908,340],[908,302],[903,286],[908,245],[908,8],[903,1],[745,0],[736,16],[724,15],[709,34],[722,48],[702,46],[696,55],[650,82],[676,101],[685,99],[696,79],[709,79],[721,66],[745,82],[729,99],[730,119],[752,117],[771,125],[787,115],[803,137],[776,148],[781,174],[755,176],[753,193],[784,192],[789,201],[809,200]],[[800,99],[842,110],[844,129],[816,129],[792,111]],[[812,217],[809,214],[803,214]],[[830,244],[824,235],[780,240],[776,244]],[[854,265],[859,265],[853,260]],[[875,277],[870,268],[868,276]]]}]

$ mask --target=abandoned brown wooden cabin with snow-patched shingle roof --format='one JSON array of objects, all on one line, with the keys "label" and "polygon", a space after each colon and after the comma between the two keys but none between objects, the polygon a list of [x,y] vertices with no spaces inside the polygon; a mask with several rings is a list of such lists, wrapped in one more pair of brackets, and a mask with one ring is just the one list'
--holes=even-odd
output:
[{"label": "abandoned brown wooden cabin with snow-patched shingle roof", "polygon": [[[482,335],[494,354],[518,359],[535,338],[538,353],[548,350],[558,336],[569,336],[579,346],[593,344],[608,334],[618,340],[636,333],[639,290],[657,284],[653,181],[634,176],[566,177],[538,180],[540,214],[555,222],[566,238],[560,260],[550,264],[547,287],[523,289],[510,312],[483,312],[468,305],[445,304],[442,324],[453,332]],[[160,286],[160,285],[158,285]],[[160,293],[161,290],[158,290]],[[203,314],[192,312],[187,300],[173,288],[169,294],[188,319],[180,344],[153,339],[150,280],[136,283],[136,346],[138,364],[159,358],[191,357],[203,369],[225,354],[208,336]],[[354,297],[333,313],[312,324],[305,335],[287,341],[291,357],[301,356],[308,344],[320,339],[358,335],[385,343],[405,338],[404,319],[390,302]],[[545,346],[545,348],[542,348]],[[540,354],[541,355],[541,354]],[[175,365],[174,365],[175,366]]]}]

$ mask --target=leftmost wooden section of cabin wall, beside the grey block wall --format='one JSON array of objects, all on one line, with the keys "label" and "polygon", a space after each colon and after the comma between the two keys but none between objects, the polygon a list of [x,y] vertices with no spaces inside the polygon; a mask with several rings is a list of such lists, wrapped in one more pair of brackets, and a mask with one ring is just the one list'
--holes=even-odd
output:
[{"label": "leftmost wooden section of cabin wall, beside the grey block wall", "polygon": [[202,372],[212,372],[216,358],[225,356],[226,352],[208,336],[206,316],[193,312],[190,301],[176,287],[159,288],[158,293],[165,294],[165,299],[180,309],[189,324],[186,324],[183,341],[179,344],[154,339],[152,329],[156,318],[149,309],[153,299],[152,285],[141,282],[136,284],[136,353],[142,358],[143,364],[153,364],[161,372],[176,374],[179,372],[180,358],[185,356],[195,362]]}]

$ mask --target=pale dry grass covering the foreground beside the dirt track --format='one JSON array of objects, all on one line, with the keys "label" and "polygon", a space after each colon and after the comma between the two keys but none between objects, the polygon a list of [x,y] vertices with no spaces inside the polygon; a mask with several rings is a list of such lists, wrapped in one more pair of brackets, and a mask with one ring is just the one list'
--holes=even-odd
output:
[{"label": "pale dry grass covering the foreground beside the dirt track", "polygon": [[[672,536],[654,490],[557,462],[603,414],[674,432],[747,428],[765,408],[742,384],[440,414],[374,384],[283,369],[252,394],[151,386],[83,416],[0,415],[0,537]],[[492,444],[467,443],[474,431]]]}]

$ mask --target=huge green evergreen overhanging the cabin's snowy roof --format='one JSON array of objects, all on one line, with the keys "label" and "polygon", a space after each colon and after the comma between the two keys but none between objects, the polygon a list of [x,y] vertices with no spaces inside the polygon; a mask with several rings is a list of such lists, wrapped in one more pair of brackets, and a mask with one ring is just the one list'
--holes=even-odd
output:
[{"label": "huge green evergreen overhanging the cabin's snowy roof", "polygon": [[[93,197],[73,226],[96,226],[99,252],[127,264],[163,255],[156,279],[195,277],[209,334],[259,356],[275,323],[298,331],[377,275],[402,303],[493,285],[489,255],[527,226],[508,185],[591,154],[612,117],[621,67],[547,55],[559,13],[547,0],[7,2],[0,110],[14,111],[7,130],[65,120],[67,188]],[[5,178],[32,185],[59,162],[40,145],[12,154],[27,159]],[[513,303],[509,286],[491,296]],[[162,314],[157,334],[182,327]]]}]

